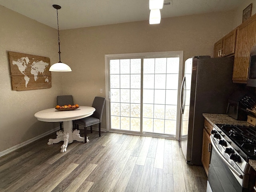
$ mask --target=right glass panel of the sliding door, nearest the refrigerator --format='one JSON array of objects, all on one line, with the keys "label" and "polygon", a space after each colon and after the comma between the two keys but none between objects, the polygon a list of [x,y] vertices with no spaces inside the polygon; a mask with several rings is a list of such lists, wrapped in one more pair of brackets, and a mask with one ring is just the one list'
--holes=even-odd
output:
[{"label": "right glass panel of the sliding door, nearest the refrigerator", "polygon": [[176,136],[179,57],[143,62],[143,132]]}]

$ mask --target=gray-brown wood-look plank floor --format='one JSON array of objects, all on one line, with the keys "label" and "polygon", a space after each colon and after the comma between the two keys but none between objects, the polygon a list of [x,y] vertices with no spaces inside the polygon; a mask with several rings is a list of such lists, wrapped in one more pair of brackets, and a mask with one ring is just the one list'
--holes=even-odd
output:
[{"label": "gray-brown wood-look plank floor", "polygon": [[186,164],[176,140],[94,131],[60,153],[49,138],[0,157],[0,192],[206,191],[203,167]]}]

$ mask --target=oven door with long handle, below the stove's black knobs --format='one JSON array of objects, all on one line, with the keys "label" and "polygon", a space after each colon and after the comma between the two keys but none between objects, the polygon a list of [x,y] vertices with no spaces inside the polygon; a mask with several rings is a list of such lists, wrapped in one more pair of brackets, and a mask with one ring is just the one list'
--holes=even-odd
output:
[{"label": "oven door with long handle, below the stove's black knobs", "polygon": [[[212,138],[211,138],[212,140]],[[212,142],[213,143],[213,142]],[[212,192],[244,192],[243,188],[235,177],[235,173],[230,170],[225,159],[220,157],[221,154],[212,145],[212,156],[208,172],[208,182]],[[241,175],[242,177],[242,175]]]}]

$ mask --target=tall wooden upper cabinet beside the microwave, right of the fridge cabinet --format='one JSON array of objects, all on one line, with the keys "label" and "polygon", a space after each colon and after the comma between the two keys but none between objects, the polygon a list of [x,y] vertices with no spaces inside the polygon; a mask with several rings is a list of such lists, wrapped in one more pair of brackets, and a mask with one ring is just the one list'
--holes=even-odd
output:
[{"label": "tall wooden upper cabinet beside the microwave, right of the fridge cabinet", "polygon": [[250,49],[256,45],[256,14],[238,26],[233,82],[246,83],[250,62]]}]

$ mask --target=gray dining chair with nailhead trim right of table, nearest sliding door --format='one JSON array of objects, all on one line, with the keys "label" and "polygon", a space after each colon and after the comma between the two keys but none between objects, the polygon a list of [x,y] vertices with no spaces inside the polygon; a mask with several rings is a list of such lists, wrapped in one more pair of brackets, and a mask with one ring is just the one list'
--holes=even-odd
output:
[{"label": "gray dining chair with nailhead trim right of table, nearest sliding door", "polygon": [[95,124],[99,124],[99,136],[100,136],[100,126],[101,126],[101,119],[103,114],[104,105],[106,102],[106,98],[104,97],[95,97],[92,103],[92,107],[95,108],[94,113],[91,116],[74,120],[75,128],[79,129],[79,126],[84,127],[84,142],[86,143],[87,137],[87,127],[90,126],[91,133],[92,133],[92,126]]}]

